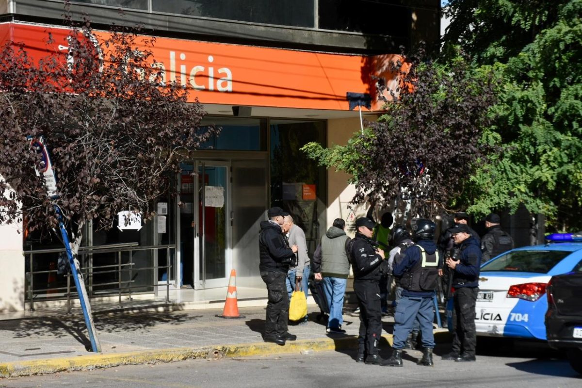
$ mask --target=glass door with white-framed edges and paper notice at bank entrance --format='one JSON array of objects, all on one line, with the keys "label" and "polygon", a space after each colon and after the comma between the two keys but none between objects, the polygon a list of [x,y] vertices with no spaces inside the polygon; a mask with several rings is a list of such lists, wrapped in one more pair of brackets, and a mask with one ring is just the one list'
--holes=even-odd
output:
[{"label": "glass door with white-framed edges and paper notice at bank entrance", "polygon": [[194,163],[194,288],[228,286],[230,271],[230,163]]}]

